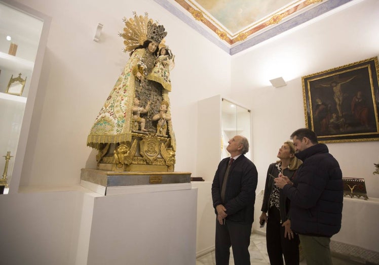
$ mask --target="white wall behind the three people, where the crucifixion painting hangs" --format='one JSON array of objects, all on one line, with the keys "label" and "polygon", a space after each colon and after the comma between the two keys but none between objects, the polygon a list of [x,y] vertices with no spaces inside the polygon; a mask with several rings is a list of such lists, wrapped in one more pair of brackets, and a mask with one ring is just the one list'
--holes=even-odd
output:
[{"label": "white wall behind the three people, where the crucifixion painting hangs", "polygon": [[[258,187],[264,189],[267,168],[291,133],[305,127],[301,76],[346,65],[379,54],[379,1],[365,0],[281,34],[233,56],[233,96],[252,110],[253,161]],[[287,85],[275,89],[269,80],[282,76]],[[327,144],[343,175],[364,178],[368,197],[379,198],[373,175],[379,142]],[[260,209],[260,205],[256,205]]]}]

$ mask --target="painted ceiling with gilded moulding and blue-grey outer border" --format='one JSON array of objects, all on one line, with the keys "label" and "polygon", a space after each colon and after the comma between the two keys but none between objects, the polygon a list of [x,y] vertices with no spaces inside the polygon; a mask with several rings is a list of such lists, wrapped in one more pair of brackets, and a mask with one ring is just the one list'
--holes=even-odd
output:
[{"label": "painted ceiling with gilded moulding and blue-grey outer border", "polygon": [[358,0],[154,0],[231,55]]}]

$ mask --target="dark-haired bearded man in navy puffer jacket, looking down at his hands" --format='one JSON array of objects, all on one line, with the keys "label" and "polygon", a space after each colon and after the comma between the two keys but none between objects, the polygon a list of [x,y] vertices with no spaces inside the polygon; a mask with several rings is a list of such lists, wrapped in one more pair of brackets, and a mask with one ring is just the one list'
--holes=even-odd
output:
[{"label": "dark-haired bearded man in navy puffer jacket, looking down at his hands", "polygon": [[342,171],[314,131],[298,129],[291,139],[303,164],[293,183],[286,176],[275,183],[291,200],[291,229],[299,234],[307,264],[332,264],[330,237],[338,233],[342,219]]}]

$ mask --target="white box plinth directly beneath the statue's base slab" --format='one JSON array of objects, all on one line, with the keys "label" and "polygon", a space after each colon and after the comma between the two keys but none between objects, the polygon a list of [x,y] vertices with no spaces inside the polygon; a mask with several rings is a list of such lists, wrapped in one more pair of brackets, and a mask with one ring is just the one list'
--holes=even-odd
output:
[{"label": "white box plinth directly beneath the statue's base slab", "polygon": [[197,189],[96,197],[86,264],[193,265],[196,210]]}]

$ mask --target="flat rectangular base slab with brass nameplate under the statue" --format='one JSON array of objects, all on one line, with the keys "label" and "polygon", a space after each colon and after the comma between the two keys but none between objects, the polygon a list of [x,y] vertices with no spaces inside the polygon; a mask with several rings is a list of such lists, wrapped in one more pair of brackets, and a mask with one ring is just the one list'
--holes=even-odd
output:
[{"label": "flat rectangular base slab with brass nameplate under the statue", "polygon": [[82,168],[81,180],[103,187],[191,183],[191,172],[131,172]]}]

